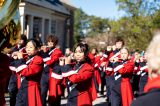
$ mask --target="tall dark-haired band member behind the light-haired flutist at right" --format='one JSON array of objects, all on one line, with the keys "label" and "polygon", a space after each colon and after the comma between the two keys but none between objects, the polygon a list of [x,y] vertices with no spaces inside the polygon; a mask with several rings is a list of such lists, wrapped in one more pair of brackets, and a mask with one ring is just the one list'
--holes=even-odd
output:
[{"label": "tall dark-haired band member behind the light-haired flutist at right", "polygon": [[107,99],[106,101],[111,102],[111,88],[114,82],[114,71],[113,71],[113,63],[114,58],[120,57],[120,49],[124,46],[124,41],[121,38],[117,38],[115,41],[115,45],[107,46],[106,55],[107,60],[105,64],[105,72],[106,72],[106,87],[107,87]]}]

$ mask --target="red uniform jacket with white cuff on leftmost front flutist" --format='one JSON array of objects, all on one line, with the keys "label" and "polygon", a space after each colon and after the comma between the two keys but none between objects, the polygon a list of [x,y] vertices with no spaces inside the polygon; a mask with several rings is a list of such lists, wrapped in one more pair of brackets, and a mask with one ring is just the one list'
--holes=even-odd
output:
[{"label": "red uniform jacket with white cuff on leftmost front flutist", "polygon": [[[43,59],[40,56],[34,56],[27,62],[24,62],[23,60],[20,61],[20,65],[16,68],[16,72],[21,75],[22,78],[24,77],[24,79],[21,82],[19,91],[24,89],[28,90],[28,106],[42,106],[40,79],[43,70]],[[20,93],[24,93],[22,95],[25,95],[27,92]],[[18,97],[17,99],[21,98],[26,97]]]}]

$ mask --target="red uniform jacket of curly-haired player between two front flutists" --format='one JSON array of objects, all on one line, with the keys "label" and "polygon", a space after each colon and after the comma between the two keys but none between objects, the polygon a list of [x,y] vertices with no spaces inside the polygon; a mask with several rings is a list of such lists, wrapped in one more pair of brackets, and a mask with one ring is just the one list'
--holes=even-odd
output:
[{"label": "red uniform jacket of curly-haired player between two front flutists", "polygon": [[63,54],[60,49],[54,48],[49,55],[50,60],[46,61],[46,64],[50,66],[49,101],[54,102],[57,96],[61,96],[63,92],[61,86],[57,84],[61,79],[54,77],[54,75],[58,75],[56,67],[59,64],[59,58],[62,57]]}]

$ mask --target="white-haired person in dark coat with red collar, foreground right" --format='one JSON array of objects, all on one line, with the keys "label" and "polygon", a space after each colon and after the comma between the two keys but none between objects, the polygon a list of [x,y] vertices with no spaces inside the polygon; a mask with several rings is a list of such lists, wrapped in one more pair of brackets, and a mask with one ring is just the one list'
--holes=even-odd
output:
[{"label": "white-haired person in dark coat with red collar, foreground right", "polygon": [[160,106],[160,34],[154,36],[147,49],[149,79],[144,94],[132,102],[131,106]]}]

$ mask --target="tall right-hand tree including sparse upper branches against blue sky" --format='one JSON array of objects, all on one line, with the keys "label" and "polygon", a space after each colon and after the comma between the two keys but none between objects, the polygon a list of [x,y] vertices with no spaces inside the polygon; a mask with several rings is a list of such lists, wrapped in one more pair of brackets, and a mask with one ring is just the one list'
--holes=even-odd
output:
[{"label": "tall right-hand tree including sparse upper branches against blue sky", "polygon": [[110,22],[113,33],[124,38],[130,48],[146,49],[152,38],[152,20],[159,8],[158,1],[156,5],[149,0],[116,0],[116,3],[126,16]]}]

